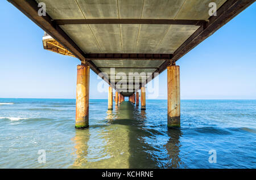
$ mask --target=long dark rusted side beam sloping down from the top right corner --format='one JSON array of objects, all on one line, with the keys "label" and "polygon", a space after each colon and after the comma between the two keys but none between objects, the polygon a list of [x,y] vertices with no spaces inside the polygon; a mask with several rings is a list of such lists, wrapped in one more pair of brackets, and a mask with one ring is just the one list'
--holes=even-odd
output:
[{"label": "long dark rusted side beam sloping down from the top right corner", "polygon": [[189,37],[175,52],[175,61],[187,54],[195,46],[199,45],[219,28],[232,20],[236,15],[250,6],[255,0],[228,0],[217,10],[217,16],[211,16],[205,25],[202,25],[191,37]]}]

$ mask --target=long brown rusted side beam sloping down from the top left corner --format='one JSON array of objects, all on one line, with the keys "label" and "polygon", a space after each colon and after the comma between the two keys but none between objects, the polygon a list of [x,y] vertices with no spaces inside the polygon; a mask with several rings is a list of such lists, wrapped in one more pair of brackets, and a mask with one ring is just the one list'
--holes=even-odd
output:
[{"label": "long brown rusted side beam sloping down from the top left corner", "polygon": [[[42,28],[49,36],[63,45],[69,52],[79,58],[81,61],[86,61],[86,64],[90,66],[96,74],[101,71],[94,65],[93,62],[87,61],[86,54],[82,52],[79,46],[53,21],[53,19],[46,13],[46,16],[39,16],[38,3],[34,0],[8,0],[18,10],[23,12],[28,18],[30,18],[35,24]],[[104,79],[109,85],[111,84],[107,79]]]}]

